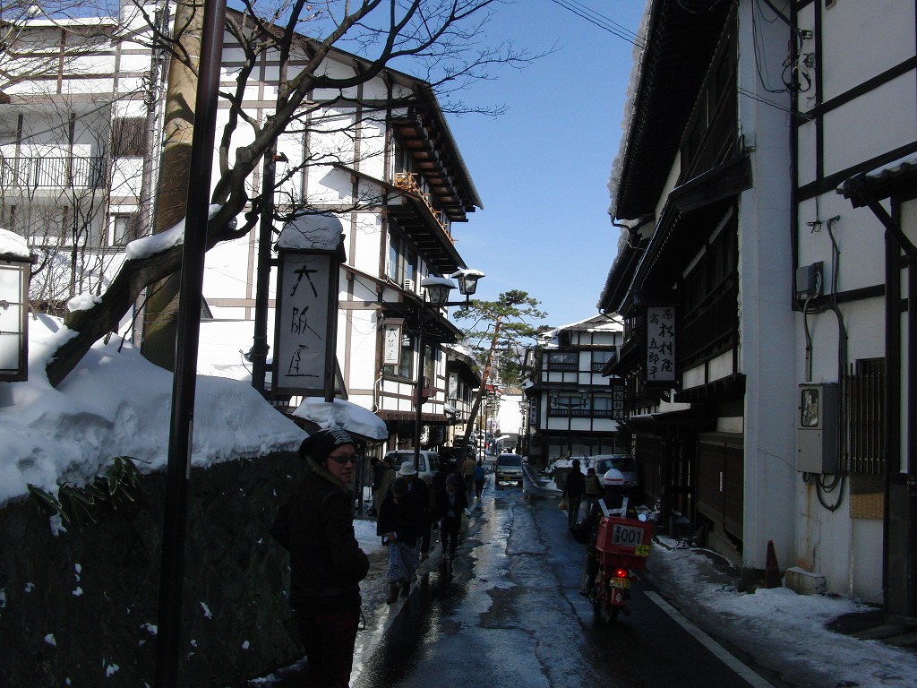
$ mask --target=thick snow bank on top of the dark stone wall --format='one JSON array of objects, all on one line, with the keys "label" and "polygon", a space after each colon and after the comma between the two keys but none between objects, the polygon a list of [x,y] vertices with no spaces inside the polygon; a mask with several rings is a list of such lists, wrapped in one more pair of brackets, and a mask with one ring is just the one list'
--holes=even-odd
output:
[{"label": "thick snow bank on top of the dark stone wall", "polygon": [[[28,484],[56,494],[62,482],[90,483],[116,456],[137,459],[142,472],[164,468],[171,372],[112,338],[96,342],[55,389],[45,365],[72,331],[44,315],[30,318],[28,329],[28,382],[0,383],[0,505],[28,494]],[[295,449],[305,437],[250,383],[198,376],[194,466]]]}]

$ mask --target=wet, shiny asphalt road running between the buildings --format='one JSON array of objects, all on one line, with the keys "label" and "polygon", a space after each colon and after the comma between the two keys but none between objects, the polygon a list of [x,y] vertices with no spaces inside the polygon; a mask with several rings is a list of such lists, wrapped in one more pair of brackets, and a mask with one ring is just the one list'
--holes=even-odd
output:
[{"label": "wet, shiny asphalt road running between the buildings", "polygon": [[[451,567],[434,554],[391,607],[365,591],[353,688],[752,685],[680,627],[646,579],[631,615],[602,624],[579,594],[585,549],[557,500],[494,490],[489,478]],[[301,685],[296,673],[273,685]]]}]

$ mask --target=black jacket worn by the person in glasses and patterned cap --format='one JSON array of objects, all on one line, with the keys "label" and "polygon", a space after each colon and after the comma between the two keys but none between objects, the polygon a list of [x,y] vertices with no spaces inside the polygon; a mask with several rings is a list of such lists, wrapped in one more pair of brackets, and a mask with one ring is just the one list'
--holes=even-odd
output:
[{"label": "black jacket worn by the person in glasses and patterned cap", "polygon": [[284,521],[288,527],[290,604],[316,610],[359,607],[359,582],[370,571],[370,560],[354,534],[348,486],[310,457],[305,469],[272,530],[284,544]]}]

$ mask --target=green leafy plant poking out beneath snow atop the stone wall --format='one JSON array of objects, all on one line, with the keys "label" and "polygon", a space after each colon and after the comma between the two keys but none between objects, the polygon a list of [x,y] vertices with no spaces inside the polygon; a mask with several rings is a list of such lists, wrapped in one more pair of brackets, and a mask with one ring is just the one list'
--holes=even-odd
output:
[{"label": "green leafy plant poking out beneath snow atop the stone wall", "polygon": [[28,485],[28,494],[41,508],[60,516],[64,526],[82,527],[87,520],[95,523],[94,507],[108,505],[117,509],[125,502],[134,502],[135,497],[142,492],[140,472],[135,461],[139,460],[116,456],[105,472],[95,476],[92,483],[83,487],[61,483],[57,496],[32,484]]}]

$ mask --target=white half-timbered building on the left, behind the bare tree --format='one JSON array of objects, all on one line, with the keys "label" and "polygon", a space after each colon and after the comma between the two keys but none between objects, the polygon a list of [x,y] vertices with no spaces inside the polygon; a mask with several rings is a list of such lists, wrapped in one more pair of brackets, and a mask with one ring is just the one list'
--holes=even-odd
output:
[{"label": "white half-timbered building on the left, behind the bare tree", "polygon": [[[104,289],[127,240],[153,225],[148,199],[159,173],[168,64],[149,50],[149,27],[137,8],[125,4],[122,12],[6,28],[17,50],[5,54],[3,66],[22,73],[36,61],[42,67],[0,84],[0,224],[48,248],[58,270],[39,272],[35,284],[44,291],[36,297],[59,311],[73,293]],[[291,77],[311,48],[304,37],[293,42]],[[245,60],[226,32],[224,87]],[[332,50],[319,71],[347,78],[368,66]],[[271,115],[278,68],[271,54],[257,61],[244,103],[250,117]],[[419,383],[423,437],[442,444],[456,415],[446,413],[447,355],[440,345],[460,332],[447,309],[423,305],[420,283],[467,267],[452,232],[481,207],[478,192],[427,83],[383,70],[349,89],[315,90],[304,109],[307,126],[277,142],[273,197],[280,212],[307,206],[337,216],[344,227],[338,394],[381,416],[392,447],[411,446]],[[218,132],[229,116],[222,103]],[[246,136],[238,129],[230,150],[248,144]],[[252,197],[260,194],[261,174],[249,183]],[[273,239],[281,228],[274,227]],[[208,252],[204,300],[215,320],[254,317],[259,244],[253,227],[249,236]],[[271,287],[271,307],[273,299]],[[251,338],[232,343],[240,362],[251,345]]]}]

